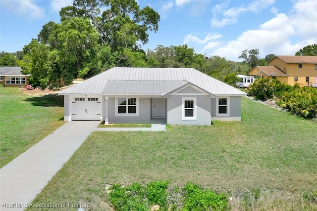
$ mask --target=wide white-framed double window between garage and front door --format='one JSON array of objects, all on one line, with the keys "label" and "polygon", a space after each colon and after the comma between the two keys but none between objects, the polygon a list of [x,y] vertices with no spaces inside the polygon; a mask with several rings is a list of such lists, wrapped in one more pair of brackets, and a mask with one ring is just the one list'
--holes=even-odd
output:
[{"label": "wide white-framed double window between garage and front door", "polygon": [[136,97],[118,97],[116,100],[116,115],[137,116],[138,98]]}]

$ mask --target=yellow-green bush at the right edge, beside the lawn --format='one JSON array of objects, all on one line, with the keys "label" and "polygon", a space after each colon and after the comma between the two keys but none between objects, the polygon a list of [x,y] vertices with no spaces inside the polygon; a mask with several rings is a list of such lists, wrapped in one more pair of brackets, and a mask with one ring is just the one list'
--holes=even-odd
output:
[{"label": "yellow-green bush at the right edge, beside the lawn", "polygon": [[278,100],[277,104],[307,119],[317,118],[317,89],[314,87],[296,88]]}]

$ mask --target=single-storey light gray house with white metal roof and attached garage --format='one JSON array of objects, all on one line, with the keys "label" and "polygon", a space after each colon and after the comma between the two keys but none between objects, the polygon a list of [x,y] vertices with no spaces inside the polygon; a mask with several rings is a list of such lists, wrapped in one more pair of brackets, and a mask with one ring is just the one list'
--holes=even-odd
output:
[{"label": "single-storey light gray house with white metal roof and attached garage", "polygon": [[246,93],[193,68],[111,68],[58,94],[64,121],[171,125],[241,121]]}]

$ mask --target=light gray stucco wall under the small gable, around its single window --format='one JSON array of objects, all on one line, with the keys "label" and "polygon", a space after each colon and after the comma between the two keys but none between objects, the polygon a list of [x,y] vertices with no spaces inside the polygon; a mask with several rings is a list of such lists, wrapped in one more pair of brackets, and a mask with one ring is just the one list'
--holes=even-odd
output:
[{"label": "light gray stucco wall under the small gable, around its single window", "polygon": [[[182,120],[182,98],[196,97],[196,120]],[[167,97],[167,124],[171,125],[211,125],[210,95],[169,95]]]}]

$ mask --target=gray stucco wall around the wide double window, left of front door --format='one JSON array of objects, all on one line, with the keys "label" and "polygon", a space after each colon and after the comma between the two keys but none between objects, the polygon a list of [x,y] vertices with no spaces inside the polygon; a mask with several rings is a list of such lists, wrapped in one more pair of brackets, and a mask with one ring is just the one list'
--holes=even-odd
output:
[{"label": "gray stucco wall around the wide double window, left of front door", "polygon": [[151,98],[139,98],[139,116],[115,116],[115,98],[108,98],[109,123],[142,123],[151,121]]}]

